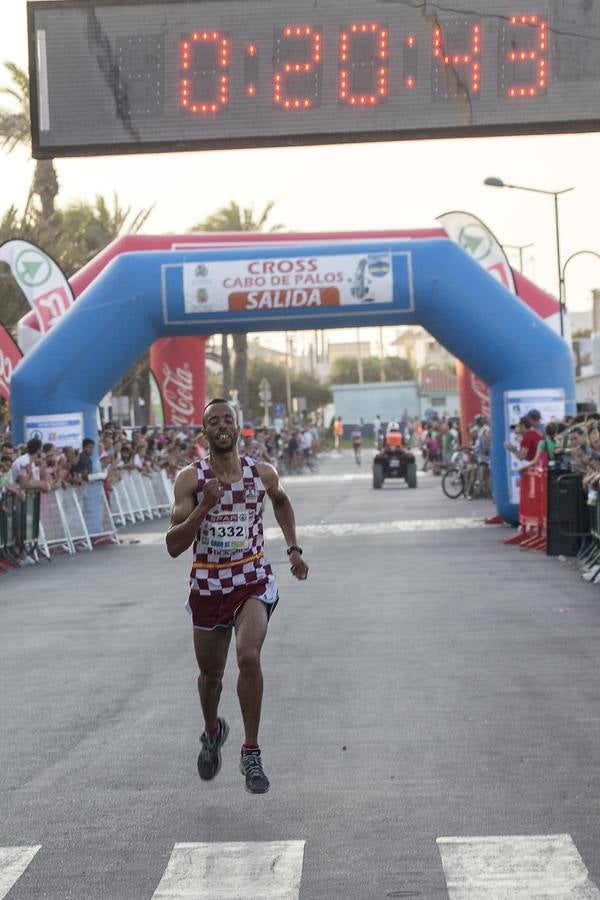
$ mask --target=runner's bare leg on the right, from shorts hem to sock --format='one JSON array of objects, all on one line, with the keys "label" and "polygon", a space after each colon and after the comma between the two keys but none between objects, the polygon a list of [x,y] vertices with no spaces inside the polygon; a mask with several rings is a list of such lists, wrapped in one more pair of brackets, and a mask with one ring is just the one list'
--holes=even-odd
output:
[{"label": "runner's bare leg on the right, from shorts hem to sock", "polygon": [[235,620],[235,642],[239,667],[237,692],[244,720],[246,745],[258,744],[263,677],[260,651],[267,634],[264,603],[249,597]]}]

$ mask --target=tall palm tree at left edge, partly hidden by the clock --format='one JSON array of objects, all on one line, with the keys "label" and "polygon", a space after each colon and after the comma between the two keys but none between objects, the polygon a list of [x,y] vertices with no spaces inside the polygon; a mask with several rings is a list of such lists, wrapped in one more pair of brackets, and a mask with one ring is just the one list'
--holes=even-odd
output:
[{"label": "tall palm tree at left edge, partly hidden by the clock", "polygon": [[[29,146],[31,141],[29,78],[15,63],[4,63],[4,67],[11,77],[12,84],[10,87],[0,88],[0,93],[12,97],[16,109],[0,108],[0,147],[12,153],[16,147]],[[35,164],[25,214],[34,194],[40,198],[42,219],[49,221],[54,215],[58,195],[58,177],[51,159],[38,159]]]}]

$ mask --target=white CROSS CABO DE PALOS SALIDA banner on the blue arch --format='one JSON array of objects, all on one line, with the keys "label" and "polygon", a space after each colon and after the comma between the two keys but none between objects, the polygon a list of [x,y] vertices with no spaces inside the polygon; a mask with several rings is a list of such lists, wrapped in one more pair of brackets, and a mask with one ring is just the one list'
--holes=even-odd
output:
[{"label": "white CROSS CABO DE PALOS SALIDA banner on the blue arch", "polygon": [[185,263],[185,312],[392,303],[390,253]]}]

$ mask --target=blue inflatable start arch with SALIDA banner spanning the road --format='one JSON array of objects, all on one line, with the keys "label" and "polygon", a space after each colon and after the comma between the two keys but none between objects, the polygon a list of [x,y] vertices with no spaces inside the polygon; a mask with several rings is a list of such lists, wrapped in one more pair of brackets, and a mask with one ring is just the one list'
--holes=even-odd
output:
[{"label": "blue inflatable start arch with SALIDA banner spanning the road", "polygon": [[94,435],[100,399],[160,337],[415,324],[489,385],[494,496],[515,522],[507,392],[562,393],[573,411],[571,351],[447,239],[124,253],[16,370],[15,440],[26,416],[73,412]]}]

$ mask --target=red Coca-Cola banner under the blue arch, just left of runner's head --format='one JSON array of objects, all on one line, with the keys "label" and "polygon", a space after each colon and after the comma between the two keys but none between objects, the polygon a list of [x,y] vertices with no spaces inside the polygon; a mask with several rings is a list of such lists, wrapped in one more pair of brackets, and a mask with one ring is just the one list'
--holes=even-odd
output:
[{"label": "red Coca-Cola banner under the blue arch, just left of runner's head", "polygon": [[202,424],[204,343],[202,337],[176,337],[152,345],[150,369],[160,390],[165,425]]}]

